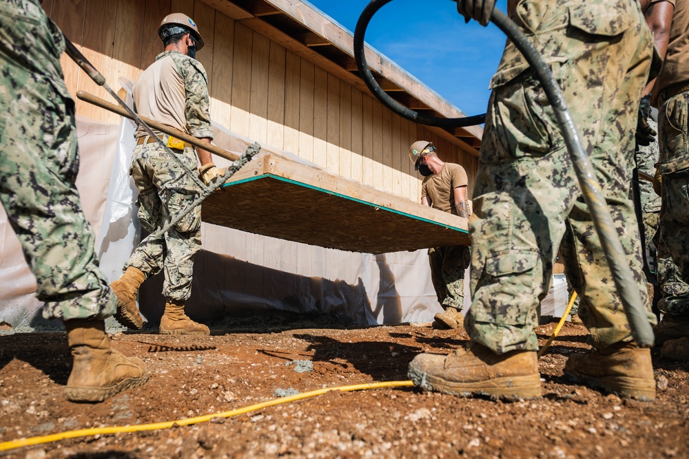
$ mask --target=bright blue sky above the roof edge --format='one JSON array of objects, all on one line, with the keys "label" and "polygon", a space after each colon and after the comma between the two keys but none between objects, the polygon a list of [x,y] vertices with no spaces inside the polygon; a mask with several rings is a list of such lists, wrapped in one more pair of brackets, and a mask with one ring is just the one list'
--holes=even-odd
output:
[{"label": "bright blue sky above the roof edge", "polygon": [[[368,0],[309,0],[353,32]],[[506,0],[497,8],[506,10]],[[366,41],[468,115],[486,111],[504,34],[457,14],[453,1],[395,0],[371,20]]]}]

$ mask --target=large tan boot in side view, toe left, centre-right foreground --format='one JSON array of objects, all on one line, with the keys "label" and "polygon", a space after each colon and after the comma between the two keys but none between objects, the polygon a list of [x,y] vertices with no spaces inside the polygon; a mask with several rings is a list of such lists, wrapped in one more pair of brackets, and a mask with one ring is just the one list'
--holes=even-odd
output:
[{"label": "large tan boot in side view, toe left, centre-right foreground", "polygon": [[495,354],[478,343],[467,343],[447,356],[415,356],[408,374],[422,389],[444,394],[507,399],[541,396],[535,351]]}]

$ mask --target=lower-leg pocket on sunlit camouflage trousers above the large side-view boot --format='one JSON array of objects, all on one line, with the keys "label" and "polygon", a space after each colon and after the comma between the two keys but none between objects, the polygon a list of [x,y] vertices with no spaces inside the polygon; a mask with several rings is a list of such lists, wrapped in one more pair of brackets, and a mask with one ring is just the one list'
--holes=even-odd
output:
[{"label": "lower-leg pocket on sunlit camouflage trousers above the large side-view boot", "polygon": [[476,306],[476,321],[495,325],[523,325],[528,307],[533,303],[539,254],[512,251],[486,259],[483,279],[477,291],[482,306]]}]

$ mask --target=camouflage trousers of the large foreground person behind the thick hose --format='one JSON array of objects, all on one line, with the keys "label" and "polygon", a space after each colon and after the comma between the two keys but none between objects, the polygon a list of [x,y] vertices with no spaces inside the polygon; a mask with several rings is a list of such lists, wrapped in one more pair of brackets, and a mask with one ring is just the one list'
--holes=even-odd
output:
[{"label": "camouflage trousers of the large foreground person behind the thick hose", "polygon": [[[629,224],[636,222],[629,199],[633,133],[653,56],[639,5],[522,0],[511,17],[562,87],[646,301],[639,232]],[[528,67],[508,41],[491,81],[473,192],[466,330],[498,354],[537,350],[537,306],[562,241],[566,273],[584,299],[579,316],[604,349],[631,339],[628,322],[555,115]]]}]

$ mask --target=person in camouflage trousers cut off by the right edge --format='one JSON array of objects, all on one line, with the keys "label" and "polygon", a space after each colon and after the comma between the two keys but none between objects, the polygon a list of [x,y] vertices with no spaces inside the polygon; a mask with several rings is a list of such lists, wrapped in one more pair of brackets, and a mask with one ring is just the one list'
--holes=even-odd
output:
[{"label": "person in camouflage trousers cut off by the right edge", "polygon": [[[689,360],[689,1],[655,4],[652,15],[670,14],[663,70],[652,91],[658,108],[661,180],[659,251],[664,297],[663,319],[655,329],[656,344],[670,359]],[[668,258],[668,262],[664,261]],[[671,259],[674,263],[670,263]]]}]

